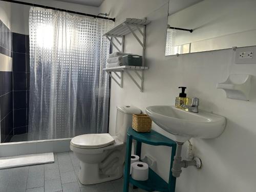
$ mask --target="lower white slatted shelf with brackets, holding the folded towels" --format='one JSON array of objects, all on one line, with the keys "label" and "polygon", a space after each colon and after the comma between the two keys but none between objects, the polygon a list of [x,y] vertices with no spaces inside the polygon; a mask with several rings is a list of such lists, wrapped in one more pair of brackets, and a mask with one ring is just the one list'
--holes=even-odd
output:
[{"label": "lower white slatted shelf with brackets, holding the folded towels", "polygon": [[[140,89],[140,91],[143,91],[143,82],[144,79],[142,78],[142,73],[144,70],[148,69],[148,67],[138,67],[138,66],[120,66],[120,67],[113,67],[113,68],[104,68],[103,70],[106,71],[110,77],[118,84],[120,88],[123,88],[123,72],[126,72],[127,75],[133,80],[133,82],[136,84],[136,86]],[[137,82],[137,80],[133,77],[133,75],[129,71],[134,71],[135,75],[140,79],[140,84]],[[115,78],[111,72],[114,72],[116,75]],[[120,75],[117,74],[117,72],[120,72]],[[139,73],[141,72],[141,74]]]}]

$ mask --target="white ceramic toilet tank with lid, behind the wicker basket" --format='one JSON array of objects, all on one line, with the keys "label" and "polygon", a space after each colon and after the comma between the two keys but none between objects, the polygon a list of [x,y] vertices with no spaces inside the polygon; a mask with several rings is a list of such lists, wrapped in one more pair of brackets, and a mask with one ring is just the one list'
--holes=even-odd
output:
[{"label": "white ceramic toilet tank with lid, behind the wicker basket", "polygon": [[117,106],[116,109],[116,136],[126,143],[127,129],[132,126],[133,114],[140,114],[141,111],[132,105]]}]

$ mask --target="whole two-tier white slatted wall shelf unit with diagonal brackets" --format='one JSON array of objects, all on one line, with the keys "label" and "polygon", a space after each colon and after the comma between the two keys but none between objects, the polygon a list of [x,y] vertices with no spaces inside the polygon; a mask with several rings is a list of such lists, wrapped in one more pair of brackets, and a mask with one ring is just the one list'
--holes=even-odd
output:
[{"label": "whole two-tier white slatted wall shelf unit with diagonal brackets", "polygon": [[[123,87],[123,72],[125,71],[127,75],[134,81],[136,86],[143,92],[143,83],[144,83],[144,70],[148,69],[145,66],[145,39],[146,39],[146,25],[149,24],[150,21],[146,19],[137,19],[137,18],[126,18],[122,23],[113,27],[111,30],[106,32],[104,36],[109,39],[111,44],[119,51],[124,52],[124,36],[132,33],[136,40],[142,47],[142,67],[135,66],[120,66],[114,68],[105,68],[104,70],[110,75],[110,77],[118,84],[119,87]],[[135,33],[138,31],[142,36],[142,40]],[[135,75],[139,78],[140,84],[136,81],[136,79],[129,72],[133,70]],[[114,72],[115,76],[119,79],[119,81],[113,76],[112,72]],[[118,74],[118,73],[120,74]],[[141,74],[139,74],[141,72]]]}]

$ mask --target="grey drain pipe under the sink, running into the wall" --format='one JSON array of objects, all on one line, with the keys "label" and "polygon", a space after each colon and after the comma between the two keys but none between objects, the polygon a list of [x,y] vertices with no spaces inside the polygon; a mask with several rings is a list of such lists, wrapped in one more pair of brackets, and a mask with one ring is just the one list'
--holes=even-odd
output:
[{"label": "grey drain pipe under the sink, running into the wall", "polygon": [[188,166],[196,166],[197,168],[201,167],[201,159],[199,157],[194,157],[193,160],[182,160],[181,158],[181,150],[182,145],[184,143],[176,142],[177,148],[176,148],[176,155],[174,156],[174,163],[172,167],[172,172],[174,177],[180,177],[180,174],[182,172],[181,168],[186,168]]}]

